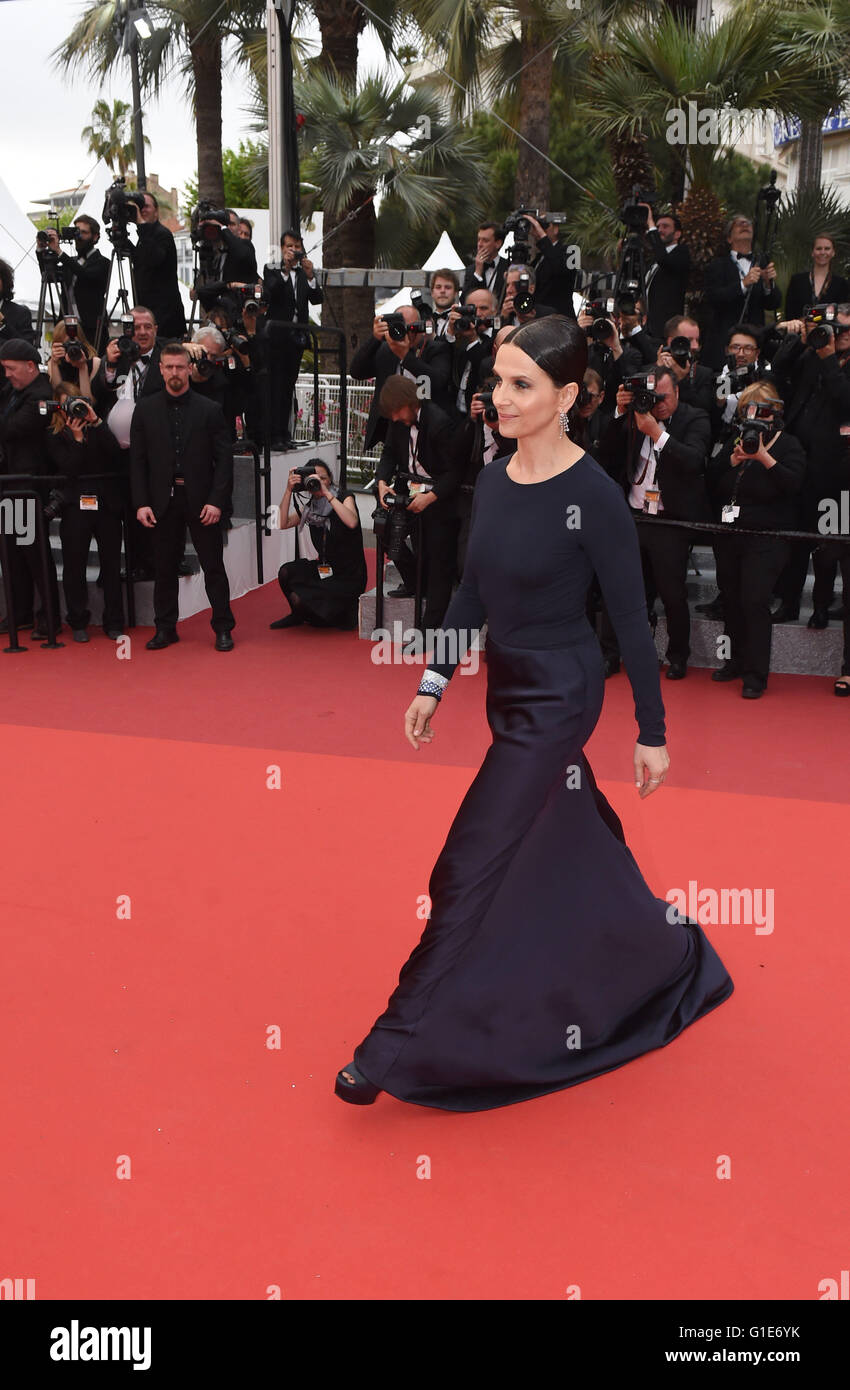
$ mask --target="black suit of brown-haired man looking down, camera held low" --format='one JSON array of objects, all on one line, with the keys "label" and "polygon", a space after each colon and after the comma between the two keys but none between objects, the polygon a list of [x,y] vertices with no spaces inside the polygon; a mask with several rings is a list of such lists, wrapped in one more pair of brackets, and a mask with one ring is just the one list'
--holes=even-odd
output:
[{"label": "black suit of brown-haired man looking down, camera held low", "polygon": [[[440,626],[451,598],[457,535],[453,499],[460,482],[456,431],[457,425],[439,406],[431,400],[422,402],[418,416],[417,459],[425,470],[425,475],[432,480],[429,491],[438,500],[419,513],[418,523],[414,513],[408,514],[414,552],[408,550],[404,541],[400,546],[393,546],[390,552],[390,559],[394,560],[403,582],[412,589],[417,582],[415,545],[418,537],[422,538],[425,587],[422,627],[425,630]],[[410,466],[410,441],[408,425],[400,421],[389,423],[386,442],[375,471],[379,482],[392,482],[397,471],[414,471]]]}]

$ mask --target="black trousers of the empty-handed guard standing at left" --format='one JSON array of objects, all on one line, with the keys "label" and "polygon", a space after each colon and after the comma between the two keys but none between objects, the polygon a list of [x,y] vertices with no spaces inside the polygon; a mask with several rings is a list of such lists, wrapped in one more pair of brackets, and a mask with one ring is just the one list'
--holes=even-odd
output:
[{"label": "black trousers of the empty-handed guard standing at left", "polygon": [[176,485],[165,512],[153,528],[154,539],[154,621],[157,628],[175,631],[178,624],[178,564],[183,555],[186,525],[204,571],[204,587],[212,607],[210,627],[214,632],[229,632],[236,626],[231,609],[231,585],[224,567],[221,521],[204,525],[190,516],[186,488]]}]

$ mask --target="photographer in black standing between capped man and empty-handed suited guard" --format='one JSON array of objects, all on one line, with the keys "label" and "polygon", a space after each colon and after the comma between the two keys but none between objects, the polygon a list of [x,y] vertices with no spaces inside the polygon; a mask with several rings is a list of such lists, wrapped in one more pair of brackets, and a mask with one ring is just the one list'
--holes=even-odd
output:
[{"label": "photographer in black standing between capped man and empty-handed suited guard", "polygon": [[[124,493],[118,480],[126,477],[125,452],[79,386],[61,382],[53,395],[60,409],[54,411],[47,431],[49,471],[67,473],[72,480],[82,478],[57,489],[51,499],[60,509],[62,589],[68,624],[75,642],[89,641],[88,626],[92,613],[88,603],[86,566],[94,538],[103,575],[103,630],[117,642],[124,634],[121,594]],[[115,481],[83,477],[94,473],[114,473]]]}]

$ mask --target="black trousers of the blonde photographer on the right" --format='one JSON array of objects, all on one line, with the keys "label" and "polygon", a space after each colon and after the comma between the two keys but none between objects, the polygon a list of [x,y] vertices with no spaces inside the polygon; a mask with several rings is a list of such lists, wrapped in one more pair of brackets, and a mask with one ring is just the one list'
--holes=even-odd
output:
[{"label": "black trousers of the blonde photographer on the right", "polygon": [[776,537],[718,535],[717,582],[724,600],[732,666],[753,684],[767,685],[771,669],[771,600],[792,542]]}]

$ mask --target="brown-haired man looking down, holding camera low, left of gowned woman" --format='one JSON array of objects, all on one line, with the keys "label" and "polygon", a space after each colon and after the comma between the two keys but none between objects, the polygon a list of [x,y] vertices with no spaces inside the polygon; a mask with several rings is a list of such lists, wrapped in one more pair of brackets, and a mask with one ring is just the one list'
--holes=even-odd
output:
[{"label": "brown-haired man looking down, holding camera low, left of gowned woman", "polygon": [[[393,513],[386,520],[386,553],[401,575],[401,589],[412,594],[421,537],[422,627],[428,631],[440,626],[454,578],[457,518],[453,503],[460,482],[456,427],[432,400],[422,400],[415,384],[404,377],[390,377],[383,384],[379,404],[390,421],[375,473],[379,506]],[[412,474],[410,481],[407,474]],[[421,517],[419,523],[412,521],[415,516]],[[375,514],[375,525],[381,520]],[[412,552],[406,545],[407,535]]]}]

